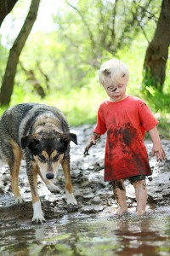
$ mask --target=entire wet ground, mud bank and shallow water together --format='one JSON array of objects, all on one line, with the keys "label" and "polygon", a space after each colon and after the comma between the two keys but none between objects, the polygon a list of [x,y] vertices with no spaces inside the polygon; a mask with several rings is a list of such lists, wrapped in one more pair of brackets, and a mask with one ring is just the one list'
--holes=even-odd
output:
[{"label": "entire wet ground, mud bank and shallow water together", "polygon": [[[170,254],[170,143],[162,138],[167,159],[150,159],[153,175],[146,180],[147,211],[135,215],[133,186],[126,181],[129,213],[116,217],[111,184],[105,183],[105,137],[89,156],[83,156],[93,126],[71,130],[71,176],[77,207],[65,204],[65,182],[59,169],[59,194],[51,194],[39,179],[38,193],[47,223],[32,224],[31,192],[26,164],[20,168],[20,191],[26,203],[16,205],[8,167],[0,164],[0,255],[169,255]],[[150,156],[152,144],[146,140]]]}]

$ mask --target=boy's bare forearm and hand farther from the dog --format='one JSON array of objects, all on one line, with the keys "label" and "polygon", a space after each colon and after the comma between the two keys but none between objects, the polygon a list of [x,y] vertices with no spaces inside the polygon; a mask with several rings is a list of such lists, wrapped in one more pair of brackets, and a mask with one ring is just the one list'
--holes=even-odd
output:
[{"label": "boy's bare forearm and hand farther from the dog", "polygon": [[153,143],[152,153],[151,156],[153,157],[156,155],[156,160],[165,160],[165,152],[161,146],[161,140],[159,137],[159,132],[157,131],[156,126],[152,128],[150,131],[150,137]]}]

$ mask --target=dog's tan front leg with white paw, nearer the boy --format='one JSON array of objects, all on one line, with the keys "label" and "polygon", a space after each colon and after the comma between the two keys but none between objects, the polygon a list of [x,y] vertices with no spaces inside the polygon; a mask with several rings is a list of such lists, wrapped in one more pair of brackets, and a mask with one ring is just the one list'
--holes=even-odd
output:
[{"label": "dog's tan front leg with white paw, nearer the boy", "polygon": [[72,193],[72,184],[71,184],[71,169],[70,169],[70,162],[68,160],[63,160],[61,162],[61,166],[63,168],[63,172],[65,175],[65,196],[66,196],[66,203],[77,205],[77,200],[75,199]]}]

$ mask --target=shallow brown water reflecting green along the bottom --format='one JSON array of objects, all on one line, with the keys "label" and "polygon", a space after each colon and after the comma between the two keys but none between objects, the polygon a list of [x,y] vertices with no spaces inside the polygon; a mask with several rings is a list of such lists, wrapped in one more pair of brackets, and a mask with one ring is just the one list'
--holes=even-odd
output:
[{"label": "shallow brown water reflecting green along the bottom", "polygon": [[144,217],[68,214],[54,222],[0,230],[0,255],[169,255],[170,207]]}]

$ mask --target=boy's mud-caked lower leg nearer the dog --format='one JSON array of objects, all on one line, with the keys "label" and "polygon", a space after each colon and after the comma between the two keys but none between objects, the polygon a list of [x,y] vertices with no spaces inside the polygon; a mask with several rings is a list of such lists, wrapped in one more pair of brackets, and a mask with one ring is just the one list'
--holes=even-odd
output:
[{"label": "boy's mud-caked lower leg nearer the dog", "polygon": [[117,204],[119,208],[116,210],[117,215],[127,212],[127,199],[126,199],[126,189],[124,186],[124,180],[116,180],[112,182],[113,193],[115,195]]}]

